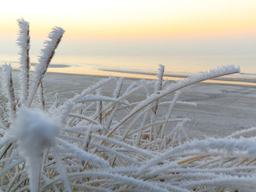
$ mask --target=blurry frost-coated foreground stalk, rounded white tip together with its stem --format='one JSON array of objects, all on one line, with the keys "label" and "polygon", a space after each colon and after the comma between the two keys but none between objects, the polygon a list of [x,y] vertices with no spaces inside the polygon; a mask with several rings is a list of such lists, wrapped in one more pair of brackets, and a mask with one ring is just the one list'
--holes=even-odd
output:
[{"label": "blurry frost-coated foreground stalk, rounded white tip together with its stem", "polygon": [[28,166],[30,191],[39,191],[43,153],[55,145],[60,128],[57,122],[45,112],[23,108],[12,124],[11,134]]}]

